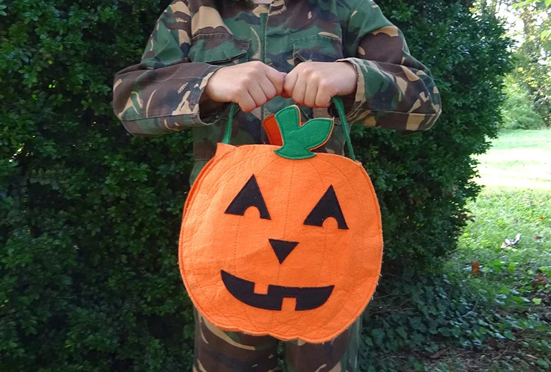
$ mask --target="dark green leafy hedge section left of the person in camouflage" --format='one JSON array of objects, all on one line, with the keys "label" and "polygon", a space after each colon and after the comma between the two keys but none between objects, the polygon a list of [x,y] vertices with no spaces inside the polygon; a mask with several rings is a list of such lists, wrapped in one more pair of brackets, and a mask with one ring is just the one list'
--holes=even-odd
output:
[{"label": "dark green leafy hedge section left of the person in camouflage", "polygon": [[183,371],[189,133],[132,138],[110,103],[158,2],[4,3],[0,371]]}]

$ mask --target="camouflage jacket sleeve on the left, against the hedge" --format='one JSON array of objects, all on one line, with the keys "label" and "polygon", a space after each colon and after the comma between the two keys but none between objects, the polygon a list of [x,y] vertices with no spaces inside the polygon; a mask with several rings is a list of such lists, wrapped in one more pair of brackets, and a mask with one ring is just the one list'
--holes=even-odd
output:
[{"label": "camouflage jacket sleeve on the left, against the hedge", "polygon": [[186,1],[173,1],[158,19],[141,63],[116,74],[113,108],[128,132],[158,136],[207,125],[199,101],[219,67],[189,60],[190,34]]}]

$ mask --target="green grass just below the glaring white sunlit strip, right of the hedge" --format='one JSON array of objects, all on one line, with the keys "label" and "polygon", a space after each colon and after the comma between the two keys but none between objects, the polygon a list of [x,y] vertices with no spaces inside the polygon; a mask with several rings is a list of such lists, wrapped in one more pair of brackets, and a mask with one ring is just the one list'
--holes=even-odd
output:
[{"label": "green grass just below the glaring white sunlit strip, right of the hedge", "polygon": [[[469,207],[475,221],[460,238],[449,270],[499,293],[498,304],[551,305],[551,190],[490,188]],[[517,245],[501,249],[517,234]],[[480,275],[470,275],[472,262],[479,262]]]}]

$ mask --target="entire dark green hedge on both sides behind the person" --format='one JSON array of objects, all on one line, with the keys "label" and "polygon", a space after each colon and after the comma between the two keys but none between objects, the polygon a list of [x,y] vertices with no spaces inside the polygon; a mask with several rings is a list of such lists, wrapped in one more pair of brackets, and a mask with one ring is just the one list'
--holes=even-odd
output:
[{"label": "entire dark green hedge on both sides behind the person", "polygon": [[[432,68],[444,114],[413,136],[356,128],[386,270],[455,247],[471,154],[499,123],[508,41],[452,0],[380,0]],[[133,138],[110,105],[167,2],[0,0],[0,371],[186,371],[176,247],[189,132]]]}]

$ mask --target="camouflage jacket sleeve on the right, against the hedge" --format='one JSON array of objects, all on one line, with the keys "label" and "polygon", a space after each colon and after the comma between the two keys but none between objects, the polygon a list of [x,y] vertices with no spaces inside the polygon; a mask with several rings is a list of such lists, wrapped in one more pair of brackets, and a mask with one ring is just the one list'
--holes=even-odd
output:
[{"label": "camouflage jacket sleeve on the right, against the hedge", "polygon": [[426,130],[441,113],[430,70],[411,56],[402,30],[372,0],[360,1],[346,30],[345,52],[358,79],[348,107],[351,123],[393,130]]}]

